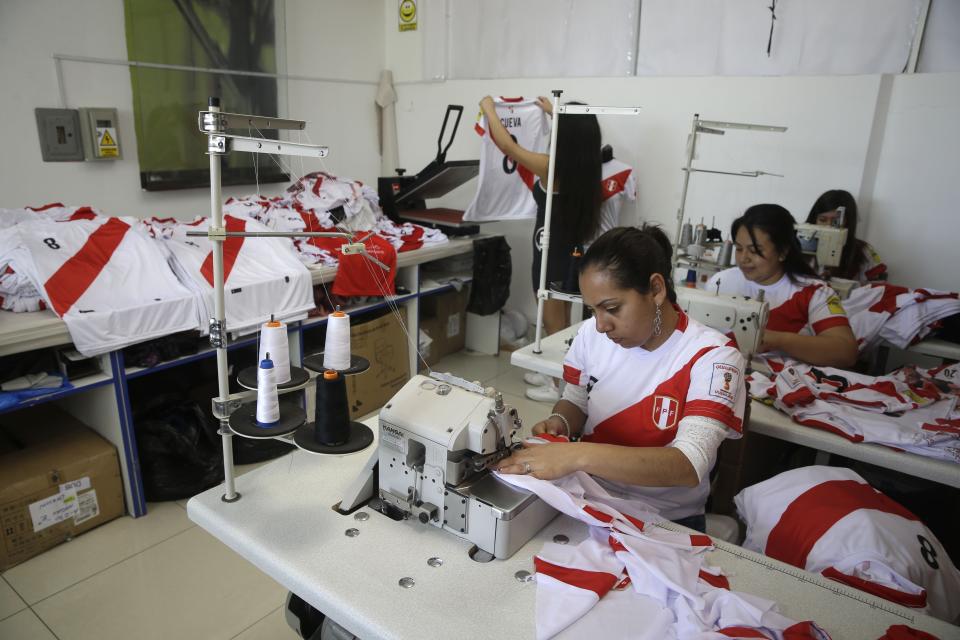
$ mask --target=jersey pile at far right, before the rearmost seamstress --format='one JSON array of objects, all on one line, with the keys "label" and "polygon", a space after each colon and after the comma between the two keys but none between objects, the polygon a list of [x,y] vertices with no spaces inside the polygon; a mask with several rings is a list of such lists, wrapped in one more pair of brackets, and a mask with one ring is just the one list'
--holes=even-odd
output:
[{"label": "jersey pile at far right, before the rearmost seamstress", "polygon": [[937,330],[945,318],[960,314],[960,295],[872,282],[851,291],[843,308],[860,351],[881,341],[905,349]]}]

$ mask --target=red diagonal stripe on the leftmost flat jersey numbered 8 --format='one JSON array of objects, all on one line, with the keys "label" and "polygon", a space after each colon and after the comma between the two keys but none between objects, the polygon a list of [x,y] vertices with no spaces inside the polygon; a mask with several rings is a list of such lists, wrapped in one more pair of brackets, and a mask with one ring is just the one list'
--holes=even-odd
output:
[{"label": "red diagonal stripe on the leftmost flat jersey numbered 8", "polygon": [[110,218],[43,283],[58,316],[67,313],[93,284],[129,230],[130,225],[120,218]]}]

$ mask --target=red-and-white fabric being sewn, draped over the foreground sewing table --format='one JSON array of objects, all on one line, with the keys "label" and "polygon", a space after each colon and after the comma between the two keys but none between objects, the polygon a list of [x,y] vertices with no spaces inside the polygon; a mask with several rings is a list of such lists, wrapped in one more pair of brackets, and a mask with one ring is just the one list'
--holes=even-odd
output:
[{"label": "red-and-white fabric being sewn, draped over the foreground sewing table", "polygon": [[654,526],[660,516],[649,505],[610,495],[588,474],[499,477],[590,526],[580,544],[547,543],[534,557],[539,639],[829,640],[816,625],[779,614],[774,602],[730,591],[704,562],[708,536]]}]

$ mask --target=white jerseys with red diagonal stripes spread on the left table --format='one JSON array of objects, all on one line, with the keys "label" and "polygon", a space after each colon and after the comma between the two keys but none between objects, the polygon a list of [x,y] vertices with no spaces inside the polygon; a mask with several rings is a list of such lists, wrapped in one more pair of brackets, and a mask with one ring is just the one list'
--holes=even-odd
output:
[{"label": "white jerseys with red diagonal stripes spread on the left table", "polygon": [[[89,207],[48,205],[0,211],[4,309],[48,308],[85,356],[179,331],[207,331],[213,315],[212,243],[189,237],[204,219],[141,221]],[[267,231],[226,217],[228,230]],[[306,317],[310,272],[282,238],[224,243],[227,329]]]}]

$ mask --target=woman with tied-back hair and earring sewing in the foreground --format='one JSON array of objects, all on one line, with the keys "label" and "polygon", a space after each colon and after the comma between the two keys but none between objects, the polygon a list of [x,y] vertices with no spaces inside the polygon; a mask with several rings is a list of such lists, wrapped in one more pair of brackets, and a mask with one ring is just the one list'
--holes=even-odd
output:
[{"label": "woman with tied-back hair and earring sewing in the foreground", "polygon": [[742,429],[745,362],[674,304],[670,254],[656,227],[612,229],[586,252],[580,291],[594,315],[564,358],[563,398],[533,427],[581,442],[526,447],[499,469],[542,479],[584,471],[703,531],[717,448]]}]

